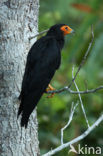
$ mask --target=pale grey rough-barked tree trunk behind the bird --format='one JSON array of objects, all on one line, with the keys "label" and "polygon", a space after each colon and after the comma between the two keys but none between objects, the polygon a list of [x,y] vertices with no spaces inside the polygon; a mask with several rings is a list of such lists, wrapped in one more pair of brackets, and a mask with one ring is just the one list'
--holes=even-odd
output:
[{"label": "pale grey rough-barked tree trunk behind the bird", "polygon": [[17,120],[17,99],[26,55],[34,43],[38,24],[38,0],[0,0],[0,156],[37,156],[36,111],[28,128]]}]

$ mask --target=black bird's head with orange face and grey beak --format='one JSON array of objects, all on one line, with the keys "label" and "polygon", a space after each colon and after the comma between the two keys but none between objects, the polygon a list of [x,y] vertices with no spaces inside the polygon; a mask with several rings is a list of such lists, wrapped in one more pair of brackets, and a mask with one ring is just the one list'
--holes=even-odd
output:
[{"label": "black bird's head with orange face and grey beak", "polygon": [[55,36],[56,38],[64,37],[67,34],[74,33],[74,30],[71,29],[68,25],[66,24],[56,24],[53,25],[47,35],[50,36]]}]

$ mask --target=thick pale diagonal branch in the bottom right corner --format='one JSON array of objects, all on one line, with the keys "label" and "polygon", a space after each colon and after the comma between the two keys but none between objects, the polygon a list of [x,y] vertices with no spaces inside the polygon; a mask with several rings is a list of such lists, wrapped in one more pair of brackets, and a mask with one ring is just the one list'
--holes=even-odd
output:
[{"label": "thick pale diagonal branch in the bottom right corner", "polygon": [[43,154],[42,156],[51,156],[56,154],[57,152],[60,152],[61,150],[63,150],[64,148],[69,147],[70,145],[77,143],[78,141],[84,139],[88,134],[90,134],[101,122],[103,121],[103,114],[97,119],[97,121],[91,126],[89,127],[83,134],[81,134],[80,136],[78,136],[77,138],[63,144],[60,145],[59,147],[49,151],[46,154]]}]

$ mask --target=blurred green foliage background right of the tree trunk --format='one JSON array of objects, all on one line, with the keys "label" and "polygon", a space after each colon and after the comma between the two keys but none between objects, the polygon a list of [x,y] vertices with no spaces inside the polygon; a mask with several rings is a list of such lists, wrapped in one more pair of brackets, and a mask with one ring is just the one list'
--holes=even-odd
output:
[{"label": "blurred green foliage background right of the tree trunk", "polygon": [[[62,64],[56,72],[52,86],[56,89],[69,84],[72,79],[72,66],[75,71],[87,50],[91,38],[90,26],[94,26],[95,40],[90,55],[81,69],[76,82],[80,90],[96,88],[103,85],[103,1],[98,0],[41,0],[39,31],[48,29],[56,23],[67,23],[76,32],[74,36],[67,36],[62,51]],[[72,89],[75,89],[72,86]],[[102,113],[103,91],[82,95],[84,107],[90,124]],[[68,92],[56,94],[52,99],[44,95],[38,105],[39,140],[41,153],[60,145],[60,129],[68,121],[72,101],[78,101],[78,95]],[[81,107],[77,108],[71,126],[65,131],[64,142],[78,136],[87,128]],[[81,145],[101,146],[103,144],[103,125],[93,131]],[[75,145],[76,146],[76,145]],[[72,155],[63,150],[57,156]]]}]

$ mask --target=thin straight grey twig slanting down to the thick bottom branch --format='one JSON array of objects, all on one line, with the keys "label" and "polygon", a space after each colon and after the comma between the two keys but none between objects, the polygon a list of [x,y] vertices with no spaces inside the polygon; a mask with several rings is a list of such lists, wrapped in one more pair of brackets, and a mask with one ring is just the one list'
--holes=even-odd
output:
[{"label": "thin straight grey twig slanting down to the thick bottom branch", "polygon": [[[73,74],[73,73],[74,73],[74,67],[73,67],[73,69],[72,69],[72,78],[74,79],[74,74]],[[79,92],[79,88],[78,88],[78,86],[77,86],[75,80],[74,80],[74,85],[75,85],[77,91]],[[84,105],[83,105],[83,101],[82,101],[81,95],[78,94],[78,96],[79,96],[79,100],[80,100],[81,108],[82,108],[82,111],[83,111],[83,114],[84,114],[84,117],[85,117],[85,120],[86,120],[87,126],[88,126],[88,128],[89,128],[90,126],[89,126],[89,122],[88,122],[88,119],[87,119],[87,116],[86,116],[86,112],[85,112],[85,109],[84,109]]]}]

